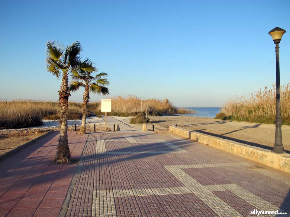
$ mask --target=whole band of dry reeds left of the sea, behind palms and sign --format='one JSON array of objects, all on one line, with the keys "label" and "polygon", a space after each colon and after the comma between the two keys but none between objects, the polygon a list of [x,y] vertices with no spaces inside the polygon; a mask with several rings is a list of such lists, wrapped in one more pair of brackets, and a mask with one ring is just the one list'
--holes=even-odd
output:
[{"label": "whole band of dry reeds left of the sea, behind palms and sign", "polygon": [[[176,107],[168,99],[142,99],[137,96],[112,97],[112,112],[108,115],[134,116],[146,112],[148,102],[148,115],[161,115],[161,113],[178,113]],[[69,102],[68,119],[82,118],[82,103]],[[101,102],[90,102],[88,111],[96,111],[100,115]],[[181,111],[180,111],[181,112]],[[184,112],[184,111],[183,111]],[[88,112],[88,116],[89,116]],[[37,100],[1,100],[0,99],[0,127],[5,129],[35,127],[42,125],[42,119],[59,119],[59,103]]]}]

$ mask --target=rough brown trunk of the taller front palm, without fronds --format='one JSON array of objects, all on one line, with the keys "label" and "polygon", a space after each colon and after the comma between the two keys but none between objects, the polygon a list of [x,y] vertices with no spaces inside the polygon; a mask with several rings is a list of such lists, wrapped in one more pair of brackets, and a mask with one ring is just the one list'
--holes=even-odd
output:
[{"label": "rough brown trunk of the taller front palm, without fronds", "polygon": [[60,163],[70,163],[69,144],[67,141],[67,110],[69,101],[68,77],[63,76],[60,87],[60,139],[54,161]]}]

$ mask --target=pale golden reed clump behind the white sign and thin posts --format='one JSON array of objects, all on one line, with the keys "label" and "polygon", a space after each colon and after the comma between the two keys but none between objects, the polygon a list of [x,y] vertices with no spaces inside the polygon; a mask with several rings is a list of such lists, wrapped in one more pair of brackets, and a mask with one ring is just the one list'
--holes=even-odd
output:
[{"label": "pale golden reed clump behind the white sign and thin posts", "polygon": [[[161,115],[161,113],[177,113],[176,107],[168,99],[142,99],[137,96],[129,95],[127,97],[113,96],[112,110],[110,115],[131,116],[140,112],[141,102],[142,111],[146,112],[146,103],[148,102],[149,115]],[[98,103],[96,114],[101,111],[101,103]]]}]

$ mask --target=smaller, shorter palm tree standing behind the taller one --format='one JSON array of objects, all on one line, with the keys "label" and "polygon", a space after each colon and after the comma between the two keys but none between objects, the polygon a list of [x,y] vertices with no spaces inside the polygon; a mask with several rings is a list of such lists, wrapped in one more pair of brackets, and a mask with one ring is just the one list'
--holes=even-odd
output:
[{"label": "smaller, shorter palm tree standing behind the taller one", "polygon": [[[86,67],[84,67],[86,66]],[[90,93],[99,93],[101,95],[109,94],[109,89],[105,85],[109,84],[107,73],[100,73],[93,76],[97,72],[95,64],[90,59],[85,59],[79,65],[78,70],[73,71],[72,83],[69,86],[70,91],[79,90],[79,87],[83,87],[85,92],[83,94],[82,104],[82,126],[80,133],[85,134],[85,119],[87,114],[87,105],[90,99]]]}]

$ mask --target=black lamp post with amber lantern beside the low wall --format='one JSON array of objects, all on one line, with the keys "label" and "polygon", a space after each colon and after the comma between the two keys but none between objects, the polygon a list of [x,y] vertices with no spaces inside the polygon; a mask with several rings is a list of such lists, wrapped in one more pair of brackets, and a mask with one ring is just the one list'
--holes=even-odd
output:
[{"label": "black lamp post with amber lantern beside the low wall", "polygon": [[269,32],[272,36],[274,43],[276,44],[276,131],[275,131],[275,143],[273,147],[273,152],[284,153],[283,143],[282,143],[282,116],[281,116],[281,103],[280,103],[280,66],[279,66],[279,43],[282,39],[283,34],[286,31],[276,27]]}]

